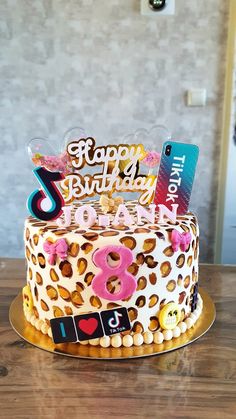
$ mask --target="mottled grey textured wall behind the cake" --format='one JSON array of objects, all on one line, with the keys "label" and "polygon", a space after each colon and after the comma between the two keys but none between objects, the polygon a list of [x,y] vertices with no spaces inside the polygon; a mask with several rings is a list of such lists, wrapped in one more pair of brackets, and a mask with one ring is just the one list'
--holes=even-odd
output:
[{"label": "mottled grey textured wall behind the cake", "polygon": [[[80,125],[105,143],[163,123],[201,148],[192,208],[212,260],[228,1],[176,0],[159,18],[139,3],[1,0],[1,256],[23,255],[27,140],[59,147]],[[189,87],[207,88],[207,107],[185,106]]]}]

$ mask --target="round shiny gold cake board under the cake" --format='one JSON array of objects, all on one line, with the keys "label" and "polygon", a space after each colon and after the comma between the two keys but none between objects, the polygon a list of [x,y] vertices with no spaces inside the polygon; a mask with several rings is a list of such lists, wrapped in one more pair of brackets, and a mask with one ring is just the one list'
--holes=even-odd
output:
[{"label": "round shiny gold cake board under the cake", "polygon": [[12,302],[9,312],[9,319],[12,328],[24,340],[44,349],[45,351],[71,356],[75,358],[91,358],[91,359],[127,359],[139,358],[144,356],[159,355],[173,351],[183,346],[193,343],[204,335],[212,326],[216,312],[215,305],[208,293],[200,288],[200,295],[203,300],[203,311],[194,327],[181,334],[179,338],[165,341],[162,344],[143,344],[141,346],[131,346],[130,348],[101,348],[91,345],[80,345],[76,343],[54,342],[41,332],[37,331],[30,323],[27,322],[23,312],[22,294],[20,293]]}]

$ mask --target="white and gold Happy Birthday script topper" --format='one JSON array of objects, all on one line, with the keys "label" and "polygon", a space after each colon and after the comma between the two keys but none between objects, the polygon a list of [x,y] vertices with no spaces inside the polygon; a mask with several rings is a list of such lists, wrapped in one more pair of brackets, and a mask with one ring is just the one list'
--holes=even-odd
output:
[{"label": "white and gold Happy Birthday script topper", "polygon": [[[96,147],[95,140],[88,137],[70,142],[67,153],[72,170],[60,183],[66,203],[113,192],[140,192],[141,205],[152,201],[156,176],[139,173],[139,162],[145,156],[142,144]],[[82,174],[85,166],[100,166],[101,170]]]}]

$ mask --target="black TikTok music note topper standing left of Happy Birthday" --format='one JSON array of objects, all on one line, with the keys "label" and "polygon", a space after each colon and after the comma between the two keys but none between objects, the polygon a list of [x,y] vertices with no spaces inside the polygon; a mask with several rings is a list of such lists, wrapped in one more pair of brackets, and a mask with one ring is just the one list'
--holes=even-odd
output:
[{"label": "black TikTok music note topper standing left of Happy Birthday", "polygon": [[[55,220],[62,214],[64,199],[56,182],[64,179],[64,175],[59,172],[51,172],[44,167],[37,167],[33,170],[42,189],[36,189],[28,198],[27,207],[31,215],[42,221]],[[43,201],[50,202],[50,207],[43,208]]]}]

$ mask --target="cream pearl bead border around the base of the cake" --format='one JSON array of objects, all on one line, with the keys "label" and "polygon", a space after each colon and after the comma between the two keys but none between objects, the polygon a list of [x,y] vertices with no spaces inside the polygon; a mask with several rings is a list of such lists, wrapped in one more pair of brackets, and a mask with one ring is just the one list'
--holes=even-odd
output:
[{"label": "cream pearl bead border around the base of the cake", "polygon": [[[141,346],[142,344],[162,344],[163,341],[170,341],[173,338],[178,338],[181,334],[185,333],[186,330],[191,329],[197,320],[199,319],[203,309],[203,301],[198,294],[198,302],[196,309],[187,317],[185,320],[178,323],[178,325],[173,330],[161,330],[156,332],[146,331],[143,333],[125,334],[116,334],[113,336],[103,336],[102,338],[90,339],[87,341],[78,342],[79,345],[91,345],[91,346],[101,346],[102,348],[120,348],[124,346],[129,348],[131,346]],[[31,312],[24,309],[24,315],[26,320],[34,326],[38,331],[42,332],[44,335],[48,335],[52,339],[52,330],[48,324],[41,319],[37,319],[36,316]]]}]

